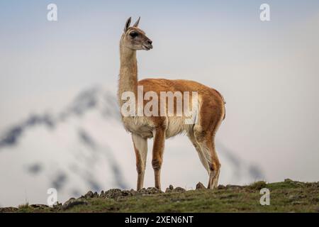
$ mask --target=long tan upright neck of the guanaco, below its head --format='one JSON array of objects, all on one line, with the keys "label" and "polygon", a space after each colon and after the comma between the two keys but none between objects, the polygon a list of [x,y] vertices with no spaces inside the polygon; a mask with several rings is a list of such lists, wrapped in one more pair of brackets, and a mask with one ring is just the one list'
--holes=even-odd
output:
[{"label": "long tan upright neck of the guanaco, below its head", "polygon": [[134,92],[138,94],[138,61],[136,60],[136,50],[125,48],[120,45],[121,68],[118,81],[118,101],[122,105],[121,96],[123,92]]}]

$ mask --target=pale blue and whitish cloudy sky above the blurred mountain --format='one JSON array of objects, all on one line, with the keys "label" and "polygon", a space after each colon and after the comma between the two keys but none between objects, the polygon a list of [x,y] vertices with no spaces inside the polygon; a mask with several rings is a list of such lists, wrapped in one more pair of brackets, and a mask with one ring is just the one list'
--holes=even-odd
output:
[{"label": "pale blue and whitish cloudy sky above the blurred mountain", "polygon": [[[259,19],[263,3],[271,21]],[[218,89],[221,143],[271,182],[318,181],[319,1],[1,1],[0,132],[96,84],[116,92],[129,16],[154,45],[138,52],[140,79]]]}]

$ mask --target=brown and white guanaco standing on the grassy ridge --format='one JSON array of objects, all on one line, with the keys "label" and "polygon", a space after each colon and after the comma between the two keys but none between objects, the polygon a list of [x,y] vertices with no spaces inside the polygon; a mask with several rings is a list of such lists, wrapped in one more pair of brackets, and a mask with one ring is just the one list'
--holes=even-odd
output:
[{"label": "brown and white guanaco standing on the grassy ridge", "polygon": [[[161,189],[160,172],[163,162],[164,142],[166,138],[185,133],[193,143],[201,163],[208,172],[208,189],[218,186],[220,161],[216,153],[215,137],[220,123],[225,118],[225,101],[223,96],[210,87],[198,82],[184,79],[142,79],[138,81],[137,50],[151,50],[152,40],[138,28],[140,18],[130,26],[131,18],[125,23],[121,36],[121,69],[118,81],[118,102],[123,106],[123,92],[133,92],[138,96],[138,87],[143,93],[155,92],[198,92],[196,121],[191,124],[178,116],[123,116],[123,126],[132,134],[138,172],[137,189],[142,189],[147,157],[147,139],[153,138],[152,167],[155,173],[155,187]],[[145,105],[145,102],[142,103]],[[175,104],[174,104],[175,105]],[[176,106],[176,105],[175,105]],[[137,107],[138,108],[138,107]],[[182,157],[181,157],[182,159]]]}]

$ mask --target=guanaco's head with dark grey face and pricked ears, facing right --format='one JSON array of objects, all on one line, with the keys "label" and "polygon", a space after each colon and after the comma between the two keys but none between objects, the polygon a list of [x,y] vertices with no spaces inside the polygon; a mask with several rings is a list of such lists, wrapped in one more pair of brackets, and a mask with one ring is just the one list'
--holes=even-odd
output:
[{"label": "guanaco's head with dark grey face and pricked ears, facing right", "polygon": [[121,38],[121,45],[131,50],[150,50],[153,48],[152,40],[147,38],[145,32],[138,28],[140,18],[130,27],[131,18],[125,23],[124,33]]}]

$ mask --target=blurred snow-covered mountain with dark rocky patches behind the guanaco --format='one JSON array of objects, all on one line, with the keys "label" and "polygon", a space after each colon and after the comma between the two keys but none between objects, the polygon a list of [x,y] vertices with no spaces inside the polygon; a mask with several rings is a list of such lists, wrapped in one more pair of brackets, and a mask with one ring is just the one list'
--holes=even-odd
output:
[{"label": "blurred snow-covered mountain with dark rocky patches behind the guanaco", "polygon": [[[0,134],[0,206],[45,204],[49,188],[57,189],[59,201],[88,190],[135,188],[133,144],[121,125],[115,94],[94,87],[57,113],[29,116]],[[217,148],[223,164],[220,184],[263,178],[255,165],[241,160],[220,143]],[[163,189],[169,184],[191,189],[198,181],[206,183],[206,178],[187,138],[167,140]],[[148,159],[145,187],[152,186]]]}]

